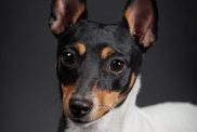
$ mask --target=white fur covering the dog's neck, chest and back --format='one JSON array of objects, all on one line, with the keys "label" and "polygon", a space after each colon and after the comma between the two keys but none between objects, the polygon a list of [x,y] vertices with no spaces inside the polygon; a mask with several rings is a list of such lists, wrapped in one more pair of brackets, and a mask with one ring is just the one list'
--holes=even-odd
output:
[{"label": "white fur covering the dog's neck, chest and back", "polygon": [[140,87],[137,78],[120,107],[91,124],[79,127],[68,121],[65,132],[197,132],[197,106],[163,103],[139,108],[135,100]]}]

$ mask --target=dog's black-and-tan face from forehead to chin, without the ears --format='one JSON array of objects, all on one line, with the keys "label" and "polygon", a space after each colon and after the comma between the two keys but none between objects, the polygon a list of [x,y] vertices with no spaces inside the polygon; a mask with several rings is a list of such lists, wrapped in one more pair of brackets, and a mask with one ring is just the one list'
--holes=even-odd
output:
[{"label": "dog's black-and-tan face from forehead to chin, without the ears", "polygon": [[[120,25],[87,21],[60,38],[57,74],[65,113],[77,119],[71,101],[90,111],[81,121],[92,121],[120,104],[132,88],[142,61],[139,47]],[[76,106],[77,107],[77,106]],[[80,111],[79,111],[80,113]],[[79,116],[80,117],[80,116]]]}]

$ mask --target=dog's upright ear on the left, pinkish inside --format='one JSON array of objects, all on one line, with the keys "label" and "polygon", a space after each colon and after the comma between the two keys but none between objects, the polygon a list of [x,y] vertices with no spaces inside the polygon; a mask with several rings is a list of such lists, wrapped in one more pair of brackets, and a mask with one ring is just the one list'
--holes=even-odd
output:
[{"label": "dog's upright ear on the left, pinkish inside", "polygon": [[86,15],[86,0],[53,0],[50,28],[57,36]]}]

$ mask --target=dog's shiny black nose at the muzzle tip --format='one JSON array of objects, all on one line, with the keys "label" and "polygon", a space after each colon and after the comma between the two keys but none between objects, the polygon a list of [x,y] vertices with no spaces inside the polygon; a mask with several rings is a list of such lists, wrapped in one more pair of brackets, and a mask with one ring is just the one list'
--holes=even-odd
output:
[{"label": "dog's shiny black nose at the muzzle tip", "polygon": [[89,100],[69,100],[69,109],[74,117],[81,118],[88,115],[92,109],[93,103]]}]

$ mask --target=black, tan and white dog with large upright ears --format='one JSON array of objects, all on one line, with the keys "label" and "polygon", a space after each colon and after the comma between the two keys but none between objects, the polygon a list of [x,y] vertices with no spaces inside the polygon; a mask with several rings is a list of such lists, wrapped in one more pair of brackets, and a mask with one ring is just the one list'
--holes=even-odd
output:
[{"label": "black, tan and white dog with large upright ears", "polygon": [[157,39],[156,2],[128,1],[122,14],[117,24],[100,24],[88,18],[86,0],[53,0],[60,132],[197,132],[195,105],[135,105],[143,54]]}]

